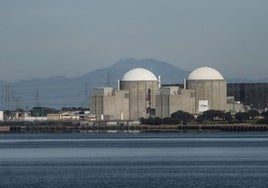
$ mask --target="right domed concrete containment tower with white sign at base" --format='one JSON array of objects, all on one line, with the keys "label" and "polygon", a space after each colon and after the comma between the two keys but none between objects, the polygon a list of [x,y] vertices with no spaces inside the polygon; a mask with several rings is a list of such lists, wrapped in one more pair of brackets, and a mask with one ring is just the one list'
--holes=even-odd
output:
[{"label": "right domed concrete containment tower with white sign at base", "polygon": [[217,70],[197,68],[189,74],[186,88],[195,91],[195,113],[226,110],[226,81]]}]

